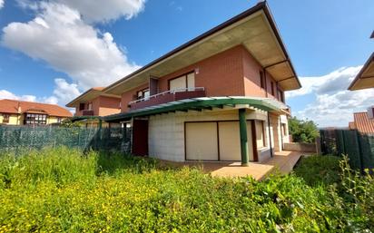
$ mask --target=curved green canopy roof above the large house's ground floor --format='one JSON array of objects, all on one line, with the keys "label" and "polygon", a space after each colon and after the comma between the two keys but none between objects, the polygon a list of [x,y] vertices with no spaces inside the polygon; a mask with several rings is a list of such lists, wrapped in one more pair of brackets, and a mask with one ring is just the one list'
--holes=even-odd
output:
[{"label": "curved green canopy roof above the large house's ground floor", "polygon": [[278,112],[288,109],[288,106],[284,103],[271,98],[241,96],[201,97],[176,102],[167,102],[130,112],[113,114],[103,117],[103,121],[123,121],[131,119],[132,117],[149,116],[166,112],[186,112],[188,110],[202,111],[202,109],[212,110],[213,107],[223,108],[224,106],[228,106],[229,108],[235,108],[236,105],[241,105],[243,108],[259,109],[266,112]]}]

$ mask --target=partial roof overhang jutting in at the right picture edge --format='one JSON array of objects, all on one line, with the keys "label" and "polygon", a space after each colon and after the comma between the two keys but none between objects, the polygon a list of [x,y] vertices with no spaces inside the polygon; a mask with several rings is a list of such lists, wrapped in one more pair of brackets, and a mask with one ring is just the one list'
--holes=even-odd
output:
[{"label": "partial roof overhang jutting in at the right picture edge", "polygon": [[356,78],[349,85],[350,91],[374,88],[374,53],[371,53],[369,60],[364,64]]}]

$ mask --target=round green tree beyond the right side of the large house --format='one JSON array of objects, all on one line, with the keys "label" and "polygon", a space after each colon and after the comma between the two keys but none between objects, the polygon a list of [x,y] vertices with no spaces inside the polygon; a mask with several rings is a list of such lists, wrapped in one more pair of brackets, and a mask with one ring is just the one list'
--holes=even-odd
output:
[{"label": "round green tree beyond the right side of the large house", "polygon": [[290,118],[289,130],[295,142],[312,143],[319,136],[317,125],[313,121],[302,121],[296,117]]}]

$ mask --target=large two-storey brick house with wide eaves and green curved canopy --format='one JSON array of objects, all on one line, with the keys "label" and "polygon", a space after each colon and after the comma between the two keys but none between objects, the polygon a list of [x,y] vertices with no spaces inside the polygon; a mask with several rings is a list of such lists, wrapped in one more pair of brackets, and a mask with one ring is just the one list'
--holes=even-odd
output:
[{"label": "large two-storey brick house with wide eaves and green curved canopy", "polygon": [[284,92],[300,88],[265,2],[105,87],[133,128],[136,155],[173,160],[270,158],[289,141]]}]

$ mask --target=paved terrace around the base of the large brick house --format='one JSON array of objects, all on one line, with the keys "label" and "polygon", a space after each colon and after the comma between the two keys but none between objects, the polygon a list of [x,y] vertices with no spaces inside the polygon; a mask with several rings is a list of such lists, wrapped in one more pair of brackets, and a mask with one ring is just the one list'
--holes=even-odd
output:
[{"label": "paved terrace around the base of the large brick house", "polygon": [[255,180],[263,180],[271,173],[281,172],[288,174],[295,164],[300,160],[301,153],[296,151],[276,152],[274,157],[261,163],[251,162],[249,167],[241,167],[241,162],[169,162],[162,161],[163,164],[182,167],[182,166],[198,166],[207,173],[211,173],[213,177],[247,177],[251,176]]}]

